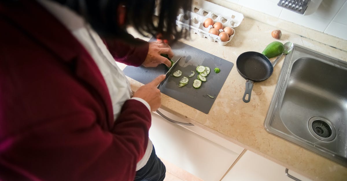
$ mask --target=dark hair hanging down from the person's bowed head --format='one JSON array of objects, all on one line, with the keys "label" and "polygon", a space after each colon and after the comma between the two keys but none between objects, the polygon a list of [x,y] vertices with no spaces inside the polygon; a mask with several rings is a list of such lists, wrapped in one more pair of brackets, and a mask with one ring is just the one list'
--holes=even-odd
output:
[{"label": "dark hair hanging down from the person's bowed head", "polygon": [[[185,19],[189,21],[192,0],[55,0],[76,11],[91,24],[101,36],[105,38],[120,38],[133,42],[125,26],[120,27],[117,11],[121,5],[126,8],[126,25],[133,26],[139,33],[158,33],[163,39],[170,40],[186,38],[189,31],[179,30],[176,26],[176,17],[179,9],[183,9]],[[154,19],[155,7],[158,8],[157,20]],[[187,22],[189,24],[189,22]]]}]

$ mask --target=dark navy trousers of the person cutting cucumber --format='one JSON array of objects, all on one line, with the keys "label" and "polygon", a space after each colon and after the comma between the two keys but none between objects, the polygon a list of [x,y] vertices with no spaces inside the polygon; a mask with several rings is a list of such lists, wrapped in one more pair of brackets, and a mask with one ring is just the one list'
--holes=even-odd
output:
[{"label": "dark navy trousers of the person cutting cucumber", "polygon": [[153,146],[153,150],[148,162],[144,167],[136,171],[134,181],[162,181],[165,178],[165,172],[165,165],[156,156]]}]

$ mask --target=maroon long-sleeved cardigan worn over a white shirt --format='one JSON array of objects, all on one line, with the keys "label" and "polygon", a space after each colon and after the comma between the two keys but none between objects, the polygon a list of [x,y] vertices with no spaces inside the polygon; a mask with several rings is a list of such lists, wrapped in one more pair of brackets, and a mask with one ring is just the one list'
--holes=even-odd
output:
[{"label": "maroon long-sleeved cardigan worn over a white shirt", "polygon": [[[148,45],[109,49],[139,66]],[[35,1],[1,1],[0,180],[133,180],[151,114],[128,100],[112,119],[105,81],[74,36]]]}]

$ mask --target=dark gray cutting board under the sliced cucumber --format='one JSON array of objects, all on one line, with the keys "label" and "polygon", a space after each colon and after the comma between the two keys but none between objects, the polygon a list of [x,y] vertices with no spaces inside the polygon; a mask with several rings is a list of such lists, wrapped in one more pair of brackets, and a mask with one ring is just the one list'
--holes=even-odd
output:
[{"label": "dark gray cutting board under the sliced cucumber", "polygon": [[[150,41],[155,41],[155,39],[152,38]],[[182,57],[175,70],[181,70],[183,75],[181,77],[170,76],[159,88],[160,91],[163,94],[208,114],[220,92],[220,89],[227,79],[231,68],[234,66],[234,63],[182,42],[176,42],[170,46],[175,54],[172,60],[177,61],[178,58]],[[218,48],[220,45],[216,43],[215,46]],[[193,80],[197,79],[197,72],[195,70],[199,65],[210,67],[211,72],[206,77],[207,81],[203,82],[199,89],[195,89],[193,87]],[[218,67],[221,70],[218,74],[213,71],[215,67]],[[147,84],[155,77],[166,74],[168,69],[164,64],[160,64],[155,68],[127,66],[123,71],[126,76],[133,78],[142,84]],[[180,79],[183,76],[188,77],[188,75],[192,73],[191,71],[195,71],[195,76],[189,78],[189,82],[186,86],[178,87]],[[214,96],[215,98],[210,98],[206,94]]]}]

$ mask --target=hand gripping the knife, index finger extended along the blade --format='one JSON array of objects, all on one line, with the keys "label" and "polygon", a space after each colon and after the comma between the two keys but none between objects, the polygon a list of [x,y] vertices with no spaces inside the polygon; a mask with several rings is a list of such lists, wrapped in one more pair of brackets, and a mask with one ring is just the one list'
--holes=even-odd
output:
[{"label": "hand gripping the knife, index finger extended along the blade", "polygon": [[150,83],[141,86],[134,93],[133,97],[139,97],[145,100],[151,107],[151,112],[157,110],[161,105],[160,90],[156,88],[161,81],[165,79],[165,75],[160,75]]}]

